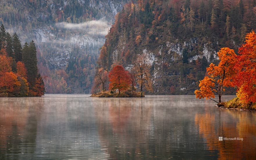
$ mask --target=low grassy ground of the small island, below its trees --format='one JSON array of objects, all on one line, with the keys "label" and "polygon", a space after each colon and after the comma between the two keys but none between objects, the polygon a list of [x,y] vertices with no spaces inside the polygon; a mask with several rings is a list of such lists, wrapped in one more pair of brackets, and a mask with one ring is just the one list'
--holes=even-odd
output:
[{"label": "low grassy ground of the small island, below its trees", "polygon": [[[110,91],[94,93],[90,97],[141,97],[141,92],[123,91],[121,93],[111,93]],[[142,97],[145,97],[142,93]]]}]

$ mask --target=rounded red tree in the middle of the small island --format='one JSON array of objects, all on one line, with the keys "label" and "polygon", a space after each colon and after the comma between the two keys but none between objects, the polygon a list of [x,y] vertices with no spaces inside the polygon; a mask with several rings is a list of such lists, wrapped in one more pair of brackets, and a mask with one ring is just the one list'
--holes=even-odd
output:
[{"label": "rounded red tree in the middle of the small island", "polygon": [[129,88],[131,82],[129,80],[129,73],[125,71],[124,67],[121,65],[116,65],[109,72],[109,89],[115,90],[118,89],[119,93],[121,90],[126,90]]}]

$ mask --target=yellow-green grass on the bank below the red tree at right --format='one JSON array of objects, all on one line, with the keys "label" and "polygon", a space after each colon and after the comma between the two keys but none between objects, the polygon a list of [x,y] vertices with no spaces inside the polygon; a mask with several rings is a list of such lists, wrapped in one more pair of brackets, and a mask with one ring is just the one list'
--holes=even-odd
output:
[{"label": "yellow-green grass on the bank below the red tree at right", "polygon": [[256,103],[243,104],[237,97],[231,99],[230,101],[224,102],[223,105],[228,109],[246,109],[256,111]]}]

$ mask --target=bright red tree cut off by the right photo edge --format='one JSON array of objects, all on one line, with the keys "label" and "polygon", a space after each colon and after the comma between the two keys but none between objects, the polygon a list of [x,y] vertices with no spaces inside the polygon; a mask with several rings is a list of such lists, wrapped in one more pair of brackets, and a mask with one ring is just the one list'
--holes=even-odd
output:
[{"label": "bright red tree cut off by the right photo edge", "polygon": [[247,104],[256,102],[256,34],[246,35],[245,44],[239,48],[233,85],[237,86],[237,97]]}]

